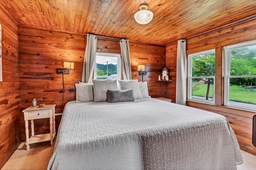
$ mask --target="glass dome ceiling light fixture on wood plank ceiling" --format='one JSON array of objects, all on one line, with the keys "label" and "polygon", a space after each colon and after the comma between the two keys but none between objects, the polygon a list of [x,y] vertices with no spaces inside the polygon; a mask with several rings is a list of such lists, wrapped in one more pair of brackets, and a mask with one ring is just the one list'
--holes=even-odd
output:
[{"label": "glass dome ceiling light fixture on wood plank ceiling", "polygon": [[147,24],[153,19],[153,12],[148,9],[148,4],[140,4],[140,11],[134,14],[135,21],[139,24]]}]

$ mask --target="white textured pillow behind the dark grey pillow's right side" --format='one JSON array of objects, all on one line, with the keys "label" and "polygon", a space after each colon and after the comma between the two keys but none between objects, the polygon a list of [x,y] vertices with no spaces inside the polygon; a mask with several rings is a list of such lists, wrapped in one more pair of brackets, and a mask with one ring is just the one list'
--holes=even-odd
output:
[{"label": "white textured pillow behind the dark grey pillow's right side", "polygon": [[118,80],[121,90],[132,89],[134,99],[141,99],[141,92],[138,80]]}]

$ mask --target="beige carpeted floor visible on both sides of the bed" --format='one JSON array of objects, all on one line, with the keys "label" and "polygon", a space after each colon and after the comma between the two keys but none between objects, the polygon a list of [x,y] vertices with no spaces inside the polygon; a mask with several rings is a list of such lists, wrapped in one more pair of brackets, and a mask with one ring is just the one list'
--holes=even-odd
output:
[{"label": "beige carpeted floor visible on both sides of the bed", "polygon": [[[47,141],[30,144],[27,151],[25,142],[22,142],[1,170],[46,170],[53,149],[54,145],[50,146],[50,141]],[[238,165],[237,169],[256,170],[256,156],[243,150],[241,152],[244,163]]]}]

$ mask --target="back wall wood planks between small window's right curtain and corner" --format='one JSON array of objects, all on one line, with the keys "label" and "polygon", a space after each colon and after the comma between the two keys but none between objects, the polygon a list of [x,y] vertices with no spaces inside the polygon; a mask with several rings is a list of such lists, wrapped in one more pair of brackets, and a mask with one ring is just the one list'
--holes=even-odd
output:
[{"label": "back wall wood planks between small window's right curtain and corner", "polygon": [[165,47],[145,43],[130,42],[132,79],[142,81],[138,75],[138,65],[145,65],[147,75],[143,82],[148,82],[148,92],[152,98],[166,97],[165,82],[156,82],[165,67]]}]

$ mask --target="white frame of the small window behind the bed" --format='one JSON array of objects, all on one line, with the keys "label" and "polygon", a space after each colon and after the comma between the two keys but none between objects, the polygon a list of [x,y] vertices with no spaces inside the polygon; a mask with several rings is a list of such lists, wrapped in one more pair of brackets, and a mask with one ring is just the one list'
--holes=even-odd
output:
[{"label": "white frame of the small window behind the bed", "polygon": [[[117,57],[117,76],[97,76],[97,74],[96,74],[96,70],[97,70],[96,57],[97,56]],[[120,54],[116,54],[116,53],[96,52],[93,74],[94,74],[94,79],[97,79],[97,78],[117,78],[117,80],[121,80],[121,55]]]}]

